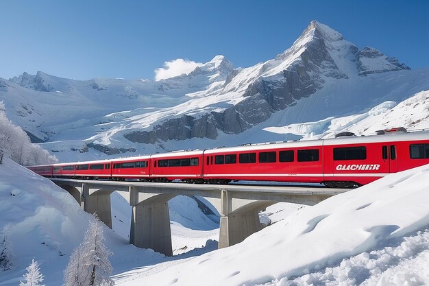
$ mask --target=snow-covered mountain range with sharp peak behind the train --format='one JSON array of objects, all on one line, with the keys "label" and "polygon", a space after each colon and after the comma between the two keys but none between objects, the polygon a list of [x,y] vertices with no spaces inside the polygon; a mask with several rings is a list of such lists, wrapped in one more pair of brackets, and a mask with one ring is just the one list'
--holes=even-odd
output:
[{"label": "snow-covered mountain range with sharp peak behind the train", "polygon": [[[368,133],[358,127],[365,114],[387,115],[428,90],[429,68],[412,71],[381,51],[359,49],[317,21],[292,47],[253,67],[234,69],[215,56],[160,81],[77,81],[42,72],[0,79],[8,117],[47,141],[60,160],[300,139],[294,130],[308,126],[313,137],[350,128]],[[397,124],[383,122],[381,129]],[[401,125],[429,128],[424,112]]]}]

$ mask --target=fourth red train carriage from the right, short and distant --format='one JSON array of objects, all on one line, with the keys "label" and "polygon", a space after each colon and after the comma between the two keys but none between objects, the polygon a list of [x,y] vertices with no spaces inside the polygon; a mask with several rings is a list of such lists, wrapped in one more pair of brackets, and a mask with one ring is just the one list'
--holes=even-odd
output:
[{"label": "fourth red train carriage from the right, short and distant", "polygon": [[149,161],[149,155],[112,160],[112,180],[149,180]]}]

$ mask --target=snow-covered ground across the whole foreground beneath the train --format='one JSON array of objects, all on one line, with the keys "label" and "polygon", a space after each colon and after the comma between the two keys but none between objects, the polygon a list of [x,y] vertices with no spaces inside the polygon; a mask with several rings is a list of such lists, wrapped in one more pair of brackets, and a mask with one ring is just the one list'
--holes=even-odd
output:
[{"label": "snow-covered ground across the whole foreground beneath the train", "polygon": [[[17,285],[31,259],[40,264],[46,285],[61,285],[89,214],[66,191],[8,159],[0,165],[0,178],[0,228],[8,225],[14,264],[0,272],[0,285]],[[428,200],[425,165],[290,215],[286,211],[273,217],[271,226],[221,250],[208,239],[205,248],[164,257],[103,229],[114,252],[117,285],[427,285]],[[265,215],[279,215],[280,209],[267,209]],[[173,235],[184,230],[175,225]],[[201,233],[200,238],[215,237],[212,230]],[[192,235],[185,237],[192,241]],[[208,250],[214,251],[202,254]]]}]

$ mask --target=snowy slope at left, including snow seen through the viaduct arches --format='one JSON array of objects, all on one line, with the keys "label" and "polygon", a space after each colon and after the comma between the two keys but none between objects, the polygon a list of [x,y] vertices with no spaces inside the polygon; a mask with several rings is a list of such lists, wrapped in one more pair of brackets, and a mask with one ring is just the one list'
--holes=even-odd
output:
[{"label": "snowy slope at left, including snow seen through the viaduct arches", "polygon": [[[195,200],[187,197],[175,198],[170,212],[174,213],[172,217],[177,221],[183,219],[183,215],[191,217],[184,224],[187,227],[177,222],[173,222],[171,227],[175,254],[188,253],[167,258],[153,250],[136,248],[129,244],[127,237],[130,233],[130,206],[117,193],[112,196],[114,231],[104,226],[103,233],[106,246],[113,252],[110,261],[115,274],[171,259],[192,257],[217,248],[217,243],[212,240],[219,237],[219,225],[207,217],[205,219],[209,222],[204,220]],[[0,202],[0,236],[6,230],[13,254],[12,269],[0,270],[0,285],[19,285],[25,267],[32,259],[40,264],[46,285],[62,285],[69,256],[82,242],[91,215],[56,184],[7,158],[3,158],[0,164]],[[177,205],[187,205],[186,213]]]}]

